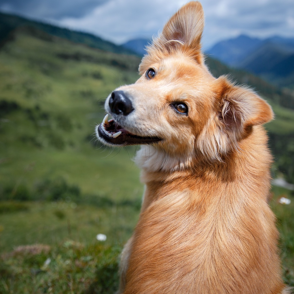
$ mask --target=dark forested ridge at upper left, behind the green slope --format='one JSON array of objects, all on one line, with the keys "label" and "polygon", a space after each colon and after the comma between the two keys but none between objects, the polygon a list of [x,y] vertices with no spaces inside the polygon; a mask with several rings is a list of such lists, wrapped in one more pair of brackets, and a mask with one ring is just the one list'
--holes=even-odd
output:
[{"label": "dark forested ridge at upper left, behind the green slope", "polygon": [[6,39],[9,39],[11,32],[19,27],[30,27],[43,31],[51,36],[67,39],[74,43],[85,44],[93,48],[121,54],[135,54],[134,51],[126,49],[123,46],[118,46],[109,41],[103,40],[93,34],[73,31],[70,29],[61,28],[51,24],[45,24],[39,21],[33,21],[21,16],[6,14],[0,12],[0,46]]}]

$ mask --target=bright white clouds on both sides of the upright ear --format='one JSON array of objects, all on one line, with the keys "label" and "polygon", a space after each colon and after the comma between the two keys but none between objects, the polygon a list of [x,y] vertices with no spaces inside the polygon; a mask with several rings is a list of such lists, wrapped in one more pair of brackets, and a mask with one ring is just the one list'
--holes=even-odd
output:
[{"label": "bright white clouds on both sides of the upright ear", "polygon": [[[152,37],[166,20],[187,1],[109,0],[81,18],[64,18],[61,24],[91,30],[116,43],[134,37]],[[265,38],[272,35],[292,36],[293,0],[203,0],[206,28],[203,44],[248,34]]]}]

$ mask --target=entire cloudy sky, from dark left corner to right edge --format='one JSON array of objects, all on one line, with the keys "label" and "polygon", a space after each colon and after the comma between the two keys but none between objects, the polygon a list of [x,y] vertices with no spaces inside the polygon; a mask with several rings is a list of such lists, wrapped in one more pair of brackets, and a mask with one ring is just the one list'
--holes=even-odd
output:
[{"label": "entire cloudy sky, from dark left corner to right edge", "polygon": [[[188,1],[183,0],[0,0],[0,11],[85,31],[122,44],[158,34]],[[294,38],[293,0],[202,0],[206,18],[202,44],[246,34]]]}]

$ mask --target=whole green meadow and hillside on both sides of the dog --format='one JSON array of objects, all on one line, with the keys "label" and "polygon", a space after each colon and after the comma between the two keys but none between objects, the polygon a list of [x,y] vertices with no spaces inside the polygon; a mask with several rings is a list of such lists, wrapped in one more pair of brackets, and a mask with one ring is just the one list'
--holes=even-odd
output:
[{"label": "whole green meadow and hillside on both sides of the dog", "polygon": [[[137,147],[106,148],[93,132],[108,93],[136,81],[139,62],[26,27],[0,48],[0,293],[116,289],[143,186]],[[269,96],[277,119],[267,127],[276,154],[292,154],[294,111],[283,97]],[[276,162],[289,169],[276,163],[273,174],[291,178],[288,153]],[[294,285],[294,198],[280,187],[272,194],[285,281]],[[282,196],[292,202],[280,204]]]}]

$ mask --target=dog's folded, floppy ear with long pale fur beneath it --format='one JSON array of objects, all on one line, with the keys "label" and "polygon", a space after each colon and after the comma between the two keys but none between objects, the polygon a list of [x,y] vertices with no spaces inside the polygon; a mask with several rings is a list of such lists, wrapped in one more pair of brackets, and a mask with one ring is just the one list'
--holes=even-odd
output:
[{"label": "dog's folded, floppy ear with long pale fur beneath it", "polygon": [[201,152],[221,161],[221,157],[239,148],[239,142],[253,131],[253,126],[271,121],[272,108],[257,94],[245,87],[230,84],[225,77],[217,80],[216,112],[198,137]]}]

